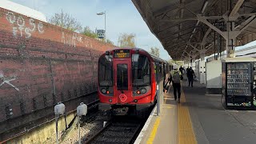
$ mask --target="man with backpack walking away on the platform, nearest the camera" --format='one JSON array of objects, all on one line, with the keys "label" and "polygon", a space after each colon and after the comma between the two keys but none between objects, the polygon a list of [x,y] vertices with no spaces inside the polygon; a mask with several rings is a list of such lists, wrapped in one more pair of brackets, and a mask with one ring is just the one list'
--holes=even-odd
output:
[{"label": "man with backpack walking away on the platform, nearest the camera", "polygon": [[178,91],[178,103],[179,103],[181,98],[181,80],[183,78],[182,78],[181,72],[178,70],[178,66],[174,65],[174,70],[172,71],[170,79],[174,87],[174,99],[175,101],[177,100],[177,91]]}]

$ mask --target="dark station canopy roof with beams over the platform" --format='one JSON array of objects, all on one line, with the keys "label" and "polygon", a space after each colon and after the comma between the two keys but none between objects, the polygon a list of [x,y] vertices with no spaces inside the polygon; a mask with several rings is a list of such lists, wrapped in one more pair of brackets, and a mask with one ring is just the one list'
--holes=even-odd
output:
[{"label": "dark station canopy roof with beams over the platform", "polygon": [[[256,39],[256,0],[132,0],[151,32],[175,60],[200,58]],[[234,31],[234,33],[230,33]],[[226,36],[226,37],[225,37]],[[231,43],[232,43],[231,42]],[[222,43],[222,44],[221,44]],[[203,46],[203,48],[202,48]]]}]

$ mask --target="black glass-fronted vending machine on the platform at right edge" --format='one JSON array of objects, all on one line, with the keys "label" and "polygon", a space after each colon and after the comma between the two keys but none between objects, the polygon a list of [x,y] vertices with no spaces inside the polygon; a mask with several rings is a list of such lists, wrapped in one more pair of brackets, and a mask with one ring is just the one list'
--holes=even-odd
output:
[{"label": "black glass-fronted vending machine on the platform at right edge", "polygon": [[256,58],[222,60],[222,106],[256,110]]}]

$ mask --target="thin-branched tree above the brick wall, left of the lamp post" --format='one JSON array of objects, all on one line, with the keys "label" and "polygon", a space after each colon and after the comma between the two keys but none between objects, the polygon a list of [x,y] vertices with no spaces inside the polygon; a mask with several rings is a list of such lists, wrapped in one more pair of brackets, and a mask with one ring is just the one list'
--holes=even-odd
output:
[{"label": "thin-branched tree above the brick wall, left of the lamp post", "polygon": [[80,32],[82,30],[82,25],[78,22],[72,15],[63,12],[54,14],[49,20],[49,22],[53,25],[60,26],[67,30],[72,30],[76,32]]}]

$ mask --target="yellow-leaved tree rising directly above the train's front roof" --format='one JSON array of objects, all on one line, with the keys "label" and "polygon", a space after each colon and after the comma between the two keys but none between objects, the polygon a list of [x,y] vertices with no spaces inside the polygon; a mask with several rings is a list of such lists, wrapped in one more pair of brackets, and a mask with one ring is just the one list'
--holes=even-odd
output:
[{"label": "yellow-leaved tree rising directly above the train's front roof", "polygon": [[118,37],[118,46],[135,47],[135,34],[120,34]]}]

